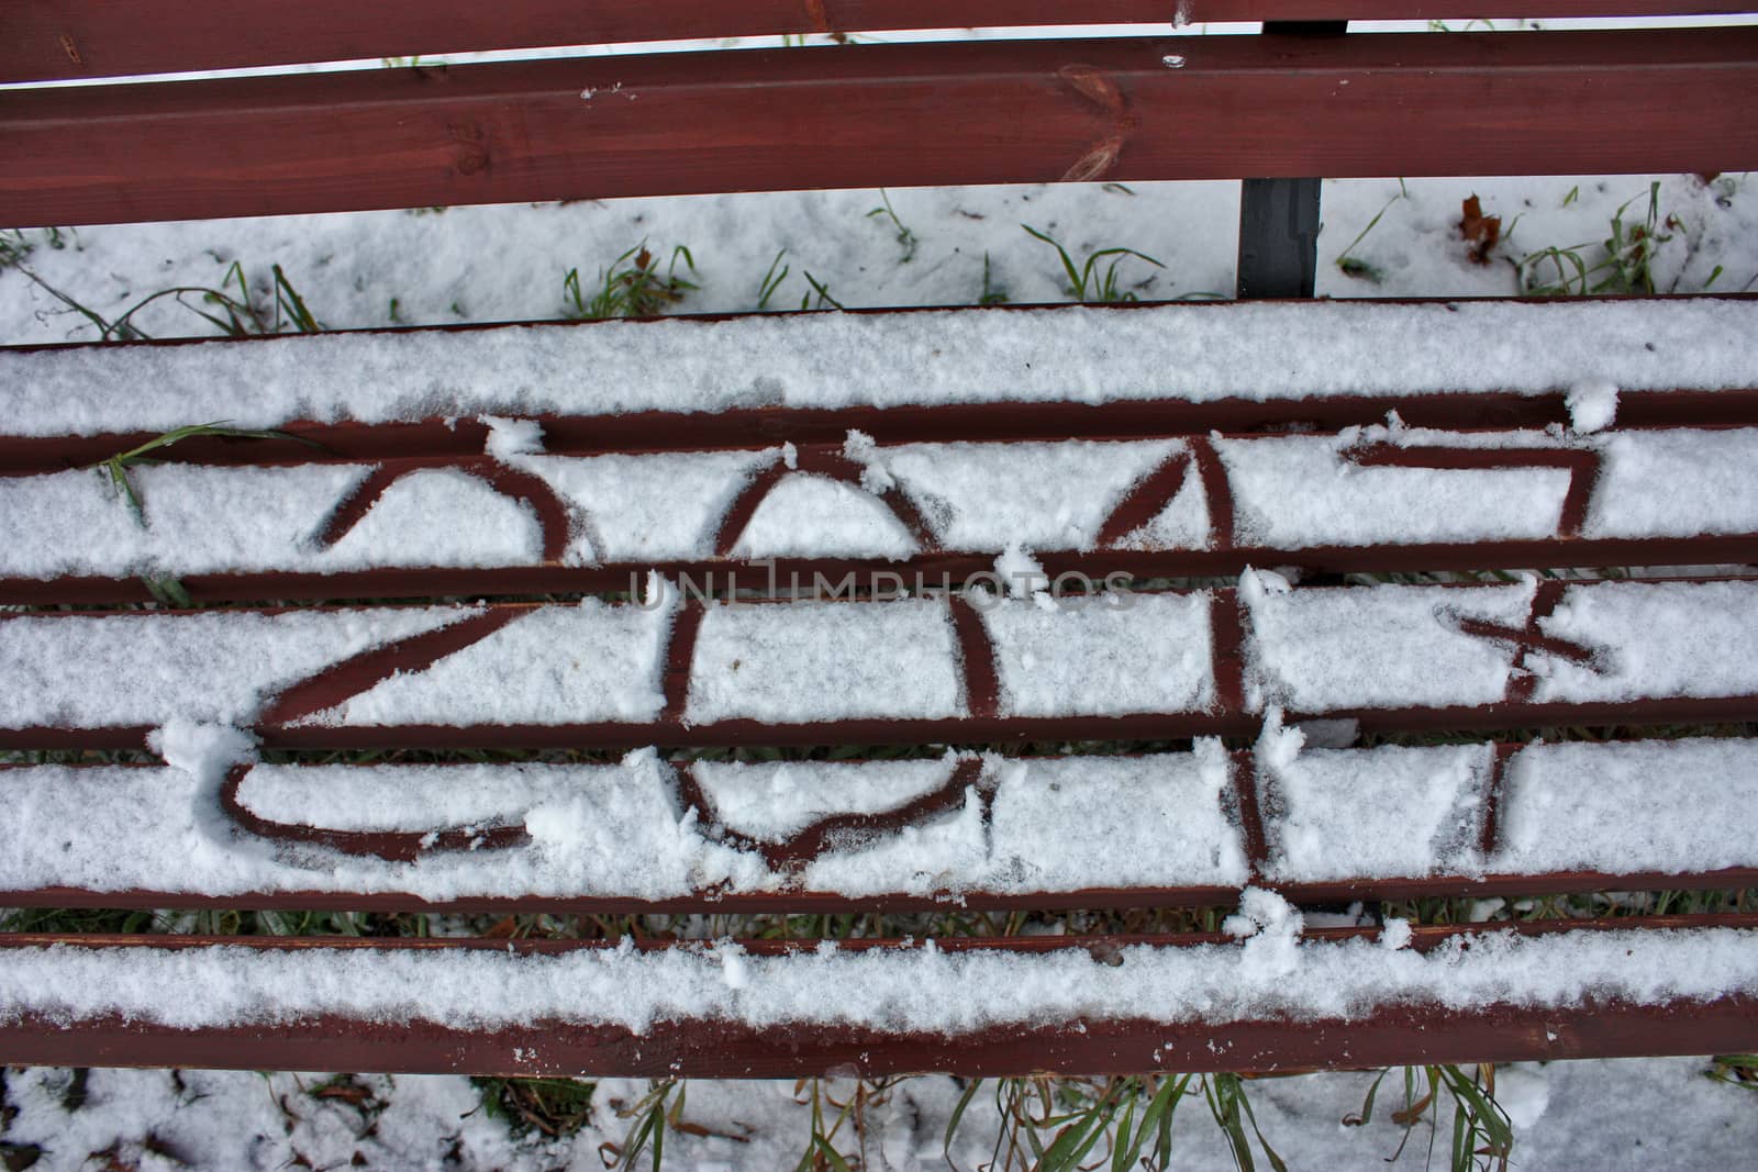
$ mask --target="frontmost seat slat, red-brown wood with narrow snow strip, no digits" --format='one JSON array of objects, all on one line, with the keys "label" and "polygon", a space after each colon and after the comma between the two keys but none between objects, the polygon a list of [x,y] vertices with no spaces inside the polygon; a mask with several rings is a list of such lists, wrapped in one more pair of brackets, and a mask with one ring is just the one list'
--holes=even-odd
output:
[{"label": "frontmost seat slat, red-brown wood with narrow snow strip, no digits", "polygon": [[1311,930],[1301,942],[1294,931],[1271,922],[1243,945],[1050,937],[928,949],[18,933],[0,937],[0,1056],[471,1074],[1023,1075],[1758,1044],[1751,915],[1413,928],[1401,949],[1375,930]]}]

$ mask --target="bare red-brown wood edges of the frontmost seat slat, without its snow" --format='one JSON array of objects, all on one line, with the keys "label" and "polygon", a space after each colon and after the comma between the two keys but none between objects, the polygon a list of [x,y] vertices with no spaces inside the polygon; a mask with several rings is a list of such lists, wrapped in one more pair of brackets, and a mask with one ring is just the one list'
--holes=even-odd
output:
[{"label": "bare red-brown wood edges of the frontmost seat slat, without its snow", "polygon": [[[1468,928],[1415,928],[1412,947],[1426,951],[1457,935],[1517,931],[1660,930],[1726,926],[1751,930],[1751,915],[1628,917],[1614,921],[1545,921]],[[1375,930],[1315,930],[1313,940],[1371,937]],[[1185,937],[1039,937],[942,938],[948,952],[999,949],[1048,952],[1088,947],[1095,956],[1122,945],[1187,947],[1220,944]],[[188,949],[216,944],[264,951],[380,949],[431,951],[487,947],[515,952],[568,952],[614,947],[612,942],[566,940],[343,940],[262,937],[63,937],[9,933],[0,949],[72,944],[81,947]],[[756,954],[814,947],[816,942],[745,942]],[[638,947],[670,947],[642,942]],[[849,949],[919,947],[854,940]],[[1294,1070],[1320,1067],[1384,1067],[1408,1063],[1524,1061],[1551,1058],[1612,1058],[1630,1054],[1705,1054],[1758,1047],[1758,998],[1714,1002],[1670,1000],[1628,1005],[1589,1000],[1572,1009],[1496,1005],[1449,1010],[1438,1005],[1385,1005],[1359,1021],[1245,1021],[1225,1024],[1074,1021],[1037,1028],[990,1028],[941,1037],[847,1028],[751,1030],[712,1021],[657,1023],[643,1035],[605,1026],[538,1021],[498,1031],[441,1028],[429,1023],[360,1023],[346,1017],[176,1030],[105,1021],[37,1021],[0,1024],[0,1061],[77,1067],[223,1067],[223,1068],[346,1068],[383,1072],[457,1072],[503,1075],[863,1075],[948,1070],[965,1075],[1034,1072],[1129,1074],[1150,1070]]]}]

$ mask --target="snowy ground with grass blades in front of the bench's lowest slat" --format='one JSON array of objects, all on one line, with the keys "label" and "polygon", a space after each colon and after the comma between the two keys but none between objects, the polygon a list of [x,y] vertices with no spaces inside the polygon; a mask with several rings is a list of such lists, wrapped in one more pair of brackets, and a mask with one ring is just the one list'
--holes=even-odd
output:
[{"label": "snowy ground with grass blades in front of the bench's lowest slat", "polygon": [[[1751,1084],[1737,1067],[1663,1058],[1494,1070],[1515,1165],[1528,1172],[1739,1168]],[[1450,1158],[1471,1068],[1210,1081],[944,1075],[789,1082],[596,1082],[216,1070],[9,1070],[7,1167],[37,1168],[826,1168],[872,1172],[1037,1163],[1034,1142],[1116,1165],[1125,1130],[1146,1167],[1461,1167]],[[1424,1102],[1431,1079],[1440,1095]],[[1487,1075],[1486,1075],[1487,1079]],[[1375,1091],[1377,1086],[1377,1091]],[[1368,1095],[1373,1093],[1371,1111]],[[1457,1091],[1457,1095],[1454,1093]],[[1159,1111],[1148,1118],[1150,1111]],[[1248,1111],[1246,1111],[1248,1107]],[[1496,1119],[1500,1123],[1500,1119]],[[1102,1125],[1102,1126],[1101,1126]],[[1494,1123],[1491,1123],[1494,1126]],[[1143,1135],[1144,1133],[1144,1135]],[[1496,1139],[1487,1135],[1486,1139]],[[659,1149],[656,1153],[656,1149]],[[95,1158],[95,1160],[93,1160]],[[1464,1161],[1471,1168],[1473,1161]]]}]

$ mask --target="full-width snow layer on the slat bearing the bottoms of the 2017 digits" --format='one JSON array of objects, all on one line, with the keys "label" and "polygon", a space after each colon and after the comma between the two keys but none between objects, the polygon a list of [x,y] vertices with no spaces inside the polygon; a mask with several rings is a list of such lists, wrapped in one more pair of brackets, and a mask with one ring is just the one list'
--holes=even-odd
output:
[{"label": "full-width snow layer on the slat bearing the bottoms of the 2017 digits", "polygon": [[[186,743],[188,734],[179,734]],[[211,740],[211,738],[209,738]],[[206,742],[204,742],[206,743]],[[381,863],[280,847],[223,821],[214,791],[237,757],[197,752],[185,768],[32,766],[0,771],[19,833],[0,857],[0,891],[404,893],[432,901],[487,896],[684,898],[724,891],[847,896],[1239,887],[1245,854],[1227,815],[1217,743],[1195,754],[984,761],[995,792],[877,838],[830,843],[798,873],[710,835],[679,807],[652,752],[621,766],[276,766],[258,764],[239,799],[260,817],[338,831],[425,833],[524,824],[531,845],[434,852]],[[179,757],[185,759],[185,757]],[[1304,750],[1259,759],[1278,884],[1426,875],[1660,872],[1758,866],[1758,742],[1689,740],[1533,745],[1510,763],[1503,843],[1478,854],[1487,745]],[[696,763],[724,826],[782,842],[839,814],[883,814],[946,784],[953,759]],[[1714,794],[1714,814],[1668,798],[1656,778]],[[1127,812],[1095,819],[1093,810]]]}]

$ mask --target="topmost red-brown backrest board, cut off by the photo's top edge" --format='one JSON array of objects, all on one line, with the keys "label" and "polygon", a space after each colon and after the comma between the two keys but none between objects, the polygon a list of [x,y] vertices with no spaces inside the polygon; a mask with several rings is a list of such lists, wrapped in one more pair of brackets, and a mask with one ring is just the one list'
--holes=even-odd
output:
[{"label": "topmost red-brown backrest board, cut off by the photo's top edge", "polygon": [[898,28],[1668,16],[1746,12],[1751,0],[11,0],[0,83],[253,65],[413,58],[633,40]]}]

